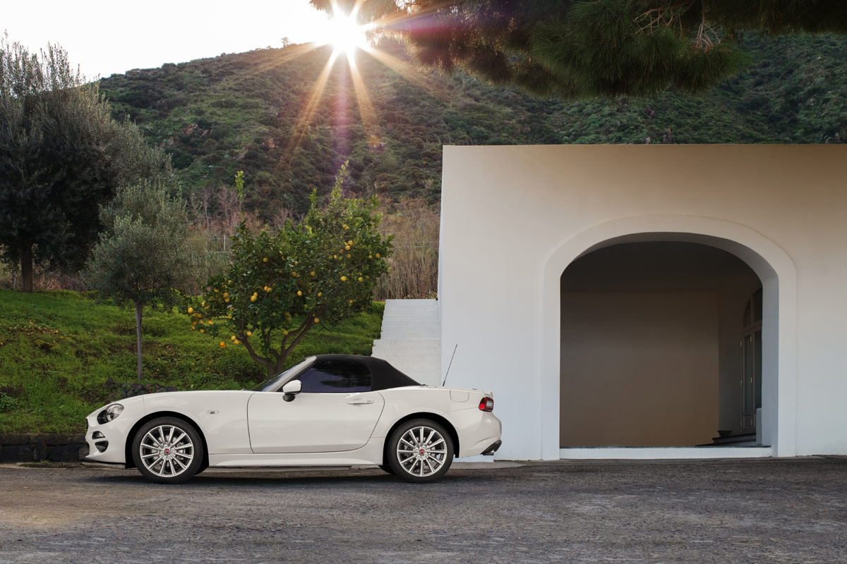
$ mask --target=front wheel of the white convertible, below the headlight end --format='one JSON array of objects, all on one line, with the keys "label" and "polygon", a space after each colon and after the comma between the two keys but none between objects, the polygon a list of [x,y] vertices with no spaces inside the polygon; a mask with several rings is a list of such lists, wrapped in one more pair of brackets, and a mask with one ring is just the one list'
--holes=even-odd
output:
[{"label": "front wheel of the white convertible, below the headlight end", "polygon": [[148,421],[132,440],[136,468],[159,484],[181,484],[190,479],[202,468],[203,455],[200,433],[194,425],[175,417]]}]

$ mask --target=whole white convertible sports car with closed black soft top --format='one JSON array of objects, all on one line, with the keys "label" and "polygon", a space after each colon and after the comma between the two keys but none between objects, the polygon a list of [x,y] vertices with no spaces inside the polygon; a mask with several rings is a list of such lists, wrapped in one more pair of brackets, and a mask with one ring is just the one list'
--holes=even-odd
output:
[{"label": "whole white convertible sports car with closed black soft top", "polygon": [[176,484],[208,467],[378,464],[410,482],[491,454],[490,392],[422,386],[382,359],[309,357],[252,390],[166,392],[88,416],[88,459]]}]

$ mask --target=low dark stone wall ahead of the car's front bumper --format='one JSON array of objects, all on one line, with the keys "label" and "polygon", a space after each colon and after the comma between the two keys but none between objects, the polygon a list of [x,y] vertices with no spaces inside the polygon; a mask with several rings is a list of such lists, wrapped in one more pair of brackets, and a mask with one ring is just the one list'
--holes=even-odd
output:
[{"label": "low dark stone wall ahead of the car's front bumper", "polygon": [[73,463],[87,454],[86,435],[81,433],[0,433],[0,463]]}]

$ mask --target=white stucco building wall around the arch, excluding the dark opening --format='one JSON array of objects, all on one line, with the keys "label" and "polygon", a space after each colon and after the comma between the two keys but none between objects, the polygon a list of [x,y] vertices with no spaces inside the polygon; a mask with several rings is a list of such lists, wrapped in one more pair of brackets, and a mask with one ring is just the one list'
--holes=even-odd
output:
[{"label": "white stucco building wall around the arch, excluding the dark opening", "polygon": [[778,373],[765,440],[779,456],[847,454],[845,163],[839,145],[445,147],[442,370],[458,344],[450,384],[495,393],[497,457],[558,456],[559,277],[607,239],[745,260]]}]

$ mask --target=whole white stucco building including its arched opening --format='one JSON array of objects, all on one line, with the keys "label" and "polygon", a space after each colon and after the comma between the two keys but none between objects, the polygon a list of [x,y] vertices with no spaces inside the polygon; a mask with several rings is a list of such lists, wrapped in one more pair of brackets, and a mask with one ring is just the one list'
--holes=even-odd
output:
[{"label": "whole white stucco building including its arched opening", "polygon": [[847,454],[847,147],[447,146],[441,202],[497,458]]}]

